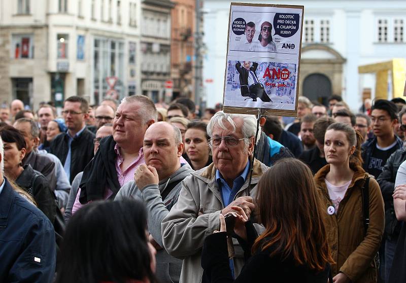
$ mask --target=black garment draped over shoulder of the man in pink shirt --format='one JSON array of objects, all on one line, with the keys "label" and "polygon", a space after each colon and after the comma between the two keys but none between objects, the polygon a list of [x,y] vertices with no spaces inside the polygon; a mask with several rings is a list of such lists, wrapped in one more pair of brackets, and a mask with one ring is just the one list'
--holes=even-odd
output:
[{"label": "black garment draped over shoulder of the man in pink shirt", "polygon": [[121,186],[117,178],[115,160],[117,158],[114,147],[116,142],[112,135],[100,140],[100,145],[94,158],[83,170],[80,181],[79,201],[85,204],[88,201],[104,199],[105,190],[108,186],[113,192],[111,199],[114,199]]}]

